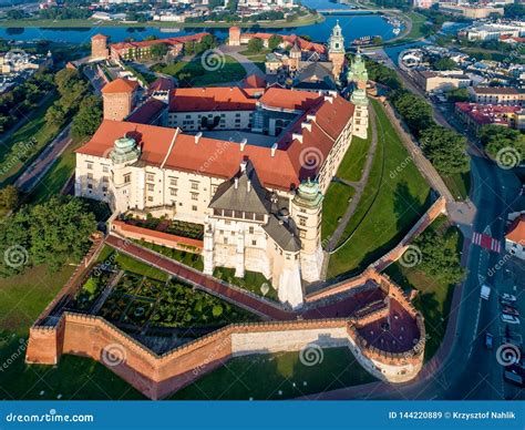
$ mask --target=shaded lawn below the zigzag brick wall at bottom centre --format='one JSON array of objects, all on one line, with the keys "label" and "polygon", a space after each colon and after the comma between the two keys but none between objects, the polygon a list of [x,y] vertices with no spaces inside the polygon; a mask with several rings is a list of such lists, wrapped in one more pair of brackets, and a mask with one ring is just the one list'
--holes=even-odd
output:
[{"label": "shaded lawn below the zigzag brick wall at bottom centre", "polygon": [[377,380],[357,362],[349,348],[322,352],[322,360],[315,366],[302,365],[299,352],[234,358],[172,399],[290,399]]}]

